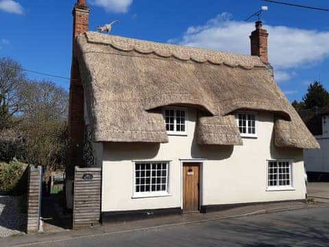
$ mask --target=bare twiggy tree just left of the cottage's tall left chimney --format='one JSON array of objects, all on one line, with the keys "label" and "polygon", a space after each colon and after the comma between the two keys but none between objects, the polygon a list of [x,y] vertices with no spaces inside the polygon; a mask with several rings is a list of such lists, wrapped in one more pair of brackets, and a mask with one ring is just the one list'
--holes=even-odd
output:
[{"label": "bare twiggy tree just left of the cottage's tall left chimney", "polygon": [[21,88],[22,122],[27,163],[47,171],[64,167],[69,95],[53,82],[27,82]]}]

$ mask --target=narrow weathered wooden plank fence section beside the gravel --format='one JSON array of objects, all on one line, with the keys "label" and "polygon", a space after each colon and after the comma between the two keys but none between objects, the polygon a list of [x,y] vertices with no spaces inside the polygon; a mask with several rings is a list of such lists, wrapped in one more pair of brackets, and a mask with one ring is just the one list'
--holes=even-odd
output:
[{"label": "narrow weathered wooden plank fence section beside the gravel", "polygon": [[29,165],[27,178],[27,233],[39,229],[42,167]]}]

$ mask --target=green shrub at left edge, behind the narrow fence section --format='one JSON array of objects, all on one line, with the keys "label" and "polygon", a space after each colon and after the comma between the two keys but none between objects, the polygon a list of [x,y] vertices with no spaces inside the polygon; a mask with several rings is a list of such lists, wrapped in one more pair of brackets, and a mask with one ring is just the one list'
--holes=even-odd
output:
[{"label": "green shrub at left edge, behind the narrow fence section", "polygon": [[8,163],[0,163],[0,191],[13,192],[19,184],[27,165],[16,159]]}]

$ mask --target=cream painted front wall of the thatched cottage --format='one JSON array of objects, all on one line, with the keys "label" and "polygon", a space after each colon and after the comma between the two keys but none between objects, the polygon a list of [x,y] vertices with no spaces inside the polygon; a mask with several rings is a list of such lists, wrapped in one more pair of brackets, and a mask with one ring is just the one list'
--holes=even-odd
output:
[{"label": "cream painted front wall of the thatched cottage", "polygon": [[[160,209],[182,206],[180,159],[205,158],[202,165],[203,205],[267,202],[305,198],[303,151],[273,146],[273,114],[258,113],[258,138],[242,146],[197,145],[196,110],[188,110],[187,136],[169,143],[103,143],[102,211]],[[293,160],[291,191],[267,191],[267,159]],[[171,161],[170,196],[133,198],[132,161]]]}]

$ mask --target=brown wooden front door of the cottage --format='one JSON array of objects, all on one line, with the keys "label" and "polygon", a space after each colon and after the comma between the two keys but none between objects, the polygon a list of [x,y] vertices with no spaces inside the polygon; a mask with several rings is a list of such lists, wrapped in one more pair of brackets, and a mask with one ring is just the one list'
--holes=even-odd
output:
[{"label": "brown wooden front door of the cottage", "polygon": [[183,210],[199,210],[199,163],[183,163]]}]

